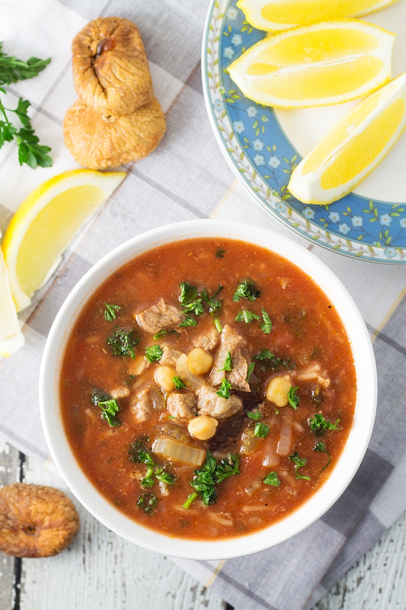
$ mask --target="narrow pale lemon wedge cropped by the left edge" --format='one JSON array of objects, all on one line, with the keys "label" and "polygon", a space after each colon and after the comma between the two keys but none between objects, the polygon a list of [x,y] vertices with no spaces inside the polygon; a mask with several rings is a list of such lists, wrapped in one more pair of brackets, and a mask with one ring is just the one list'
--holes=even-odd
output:
[{"label": "narrow pale lemon wedge cropped by the left edge", "polygon": [[24,336],[19,326],[7,268],[0,248],[0,356],[9,357],[23,345]]}]

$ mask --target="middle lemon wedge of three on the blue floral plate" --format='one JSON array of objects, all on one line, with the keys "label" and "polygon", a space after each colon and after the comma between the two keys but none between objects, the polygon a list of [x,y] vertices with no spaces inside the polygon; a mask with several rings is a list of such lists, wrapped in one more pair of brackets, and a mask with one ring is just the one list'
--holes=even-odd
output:
[{"label": "middle lemon wedge of three on the blue floral plate", "polygon": [[296,27],[260,40],[228,66],[249,99],[264,106],[327,106],[390,79],[396,34],[359,20]]}]

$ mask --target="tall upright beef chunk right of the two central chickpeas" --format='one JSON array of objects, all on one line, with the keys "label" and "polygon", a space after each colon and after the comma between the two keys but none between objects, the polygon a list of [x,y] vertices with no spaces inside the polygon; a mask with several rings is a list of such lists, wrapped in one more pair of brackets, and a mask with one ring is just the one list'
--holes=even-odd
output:
[{"label": "tall upright beef chunk right of the two central chickpeas", "polygon": [[[225,377],[233,389],[242,392],[251,391],[247,381],[248,356],[245,348],[245,340],[231,326],[225,324],[220,336],[220,348],[210,375],[212,386],[220,386]],[[228,352],[231,354],[231,371],[219,370],[223,367]]]}]

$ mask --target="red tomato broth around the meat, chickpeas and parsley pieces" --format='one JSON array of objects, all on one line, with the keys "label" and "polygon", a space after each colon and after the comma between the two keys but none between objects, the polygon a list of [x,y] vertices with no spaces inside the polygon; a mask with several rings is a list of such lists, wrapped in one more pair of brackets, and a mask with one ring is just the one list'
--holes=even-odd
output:
[{"label": "red tomato broth around the meat, chickpeas and parsley pieces", "polygon": [[[224,251],[223,257],[215,256],[219,249]],[[235,303],[236,287],[247,278],[255,282],[261,295],[252,302],[242,299]],[[194,337],[213,328],[211,314],[196,317],[196,327],[177,329],[178,336],[167,335],[158,340],[141,331],[135,321],[136,313],[155,304],[161,296],[167,303],[180,306],[180,282],[189,282],[198,290],[206,288],[209,295],[219,284],[223,285],[219,293],[222,307],[215,314],[222,326],[228,323],[242,335],[251,354],[267,348],[275,356],[295,362],[293,370],[282,368],[262,373],[258,361],[254,361],[253,391],[231,390],[242,398],[243,411],[220,420],[214,437],[206,441],[191,437],[187,422],[170,419],[165,408],[153,409],[147,422],[137,422],[131,400],[144,384],[156,385],[153,378],[156,365],[150,365],[144,378],[132,378],[129,371],[135,361],[131,357],[112,356],[106,343],[107,336],[119,323],[138,329],[141,336],[136,346],[138,358],[145,348],[160,343],[168,343],[187,354],[193,347]],[[105,303],[121,307],[113,322],[105,320]],[[269,334],[264,334],[259,326],[262,307],[273,323]],[[261,320],[248,324],[236,322],[236,315],[242,309],[254,312]],[[320,390],[320,384],[315,384],[314,379],[296,381],[300,371],[315,362],[331,381],[326,389]],[[153,441],[165,434],[165,428],[175,426],[189,437],[192,446],[210,450],[219,460],[227,453],[238,454],[243,429],[249,424],[255,425],[245,412],[254,411],[264,401],[270,378],[285,374],[291,374],[292,386],[299,388],[296,411],[289,405],[275,409],[275,405],[265,403],[261,423],[270,426],[270,432],[265,439],[255,439],[254,453],[239,456],[240,474],[226,478],[217,487],[215,503],[204,506],[197,498],[190,508],[184,509],[186,498],[195,491],[190,481],[197,467],[170,462],[154,454],[156,464],[176,475],[175,484],[167,486],[168,495],[162,495],[158,481],[149,489],[141,485],[146,467],[130,461],[130,443],[148,434],[150,440],[145,444],[150,449]],[[208,374],[202,377],[208,379]],[[315,386],[319,387],[323,402],[316,400]],[[100,407],[94,406],[89,398],[94,387],[108,393],[116,387],[130,389],[129,397],[118,400],[120,426],[111,427],[102,420]],[[65,433],[75,458],[105,498],[148,528],[170,536],[210,540],[263,529],[294,511],[323,484],[348,438],[356,391],[354,361],[343,324],[327,296],[309,276],[265,248],[239,240],[196,238],[141,254],[119,268],[89,298],[66,343],[60,403]],[[320,411],[331,422],[340,419],[340,429],[315,436],[310,430],[309,418]],[[278,464],[264,465],[275,461],[281,426],[289,417],[293,418],[290,454],[296,451],[300,458],[307,459],[298,473],[309,476],[310,480],[295,478],[295,464],[289,456],[277,456]],[[328,454],[313,451],[318,442],[324,443]],[[329,458],[331,464],[326,467]],[[262,483],[270,472],[278,474],[279,487]],[[145,493],[155,493],[158,498],[152,514],[137,506],[139,497]]]}]

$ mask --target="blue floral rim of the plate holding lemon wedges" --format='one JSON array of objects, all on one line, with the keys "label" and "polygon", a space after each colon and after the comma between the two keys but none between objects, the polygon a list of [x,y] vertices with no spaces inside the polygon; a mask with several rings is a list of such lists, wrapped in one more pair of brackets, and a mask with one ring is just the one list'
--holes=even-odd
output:
[{"label": "blue floral rim of the plate holding lemon wedges", "polygon": [[286,191],[301,157],[273,109],[241,93],[227,66],[264,37],[245,21],[236,0],[212,0],[203,34],[201,70],[209,120],[231,169],[267,212],[312,243],[348,257],[406,263],[406,203],[349,193],[332,206],[305,206]]}]

